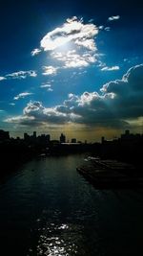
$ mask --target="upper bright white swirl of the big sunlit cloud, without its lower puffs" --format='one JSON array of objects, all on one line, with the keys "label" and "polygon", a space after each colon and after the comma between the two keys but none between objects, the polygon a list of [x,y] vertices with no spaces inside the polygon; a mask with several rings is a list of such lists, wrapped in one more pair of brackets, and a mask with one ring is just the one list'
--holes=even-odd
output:
[{"label": "upper bright white swirl of the big sunlit cloud, without its lower puffs", "polygon": [[83,24],[82,19],[78,20],[77,17],[72,17],[67,19],[62,27],[56,28],[45,35],[40,44],[44,51],[55,50],[70,42],[77,45],[80,43],[85,48],[94,50],[93,36],[97,34],[98,28],[95,25]]}]

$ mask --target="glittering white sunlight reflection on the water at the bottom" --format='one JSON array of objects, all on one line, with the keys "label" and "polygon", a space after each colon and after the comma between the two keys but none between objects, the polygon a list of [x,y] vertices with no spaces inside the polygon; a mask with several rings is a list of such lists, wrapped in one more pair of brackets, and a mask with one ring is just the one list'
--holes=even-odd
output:
[{"label": "glittering white sunlight reflection on the water at the bottom", "polygon": [[[47,224],[40,230],[36,248],[37,255],[69,256],[72,253],[75,255],[81,229],[81,226],[67,223],[57,225],[51,222]],[[79,236],[77,236],[77,232]],[[32,250],[30,249],[30,251]]]}]

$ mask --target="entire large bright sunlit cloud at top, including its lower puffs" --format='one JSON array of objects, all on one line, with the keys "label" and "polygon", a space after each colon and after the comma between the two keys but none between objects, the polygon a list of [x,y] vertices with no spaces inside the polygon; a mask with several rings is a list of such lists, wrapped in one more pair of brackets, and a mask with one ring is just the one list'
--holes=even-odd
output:
[{"label": "entire large bright sunlit cloud at top, including its lower puffs", "polygon": [[[83,19],[74,16],[45,35],[40,41],[40,47],[41,50],[50,52],[51,58],[60,61],[60,68],[85,67],[96,61],[94,37],[98,32],[97,26],[84,24]],[[34,50],[33,53],[36,53]]]}]

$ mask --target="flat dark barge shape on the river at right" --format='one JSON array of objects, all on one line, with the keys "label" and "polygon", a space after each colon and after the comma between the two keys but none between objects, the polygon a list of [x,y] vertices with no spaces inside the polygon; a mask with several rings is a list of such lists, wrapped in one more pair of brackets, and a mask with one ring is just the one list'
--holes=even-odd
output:
[{"label": "flat dark barge shape on the river at right", "polygon": [[76,170],[97,188],[143,187],[142,172],[116,160],[91,158]]}]

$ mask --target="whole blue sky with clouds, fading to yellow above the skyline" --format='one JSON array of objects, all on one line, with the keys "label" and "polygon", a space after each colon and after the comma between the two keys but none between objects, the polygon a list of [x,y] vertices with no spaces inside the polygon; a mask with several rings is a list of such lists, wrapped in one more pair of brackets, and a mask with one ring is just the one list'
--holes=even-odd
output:
[{"label": "whole blue sky with clouds, fading to yellow above the skyline", "polygon": [[143,127],[143,4],[0,1],[0,128],[98,141]]}]

